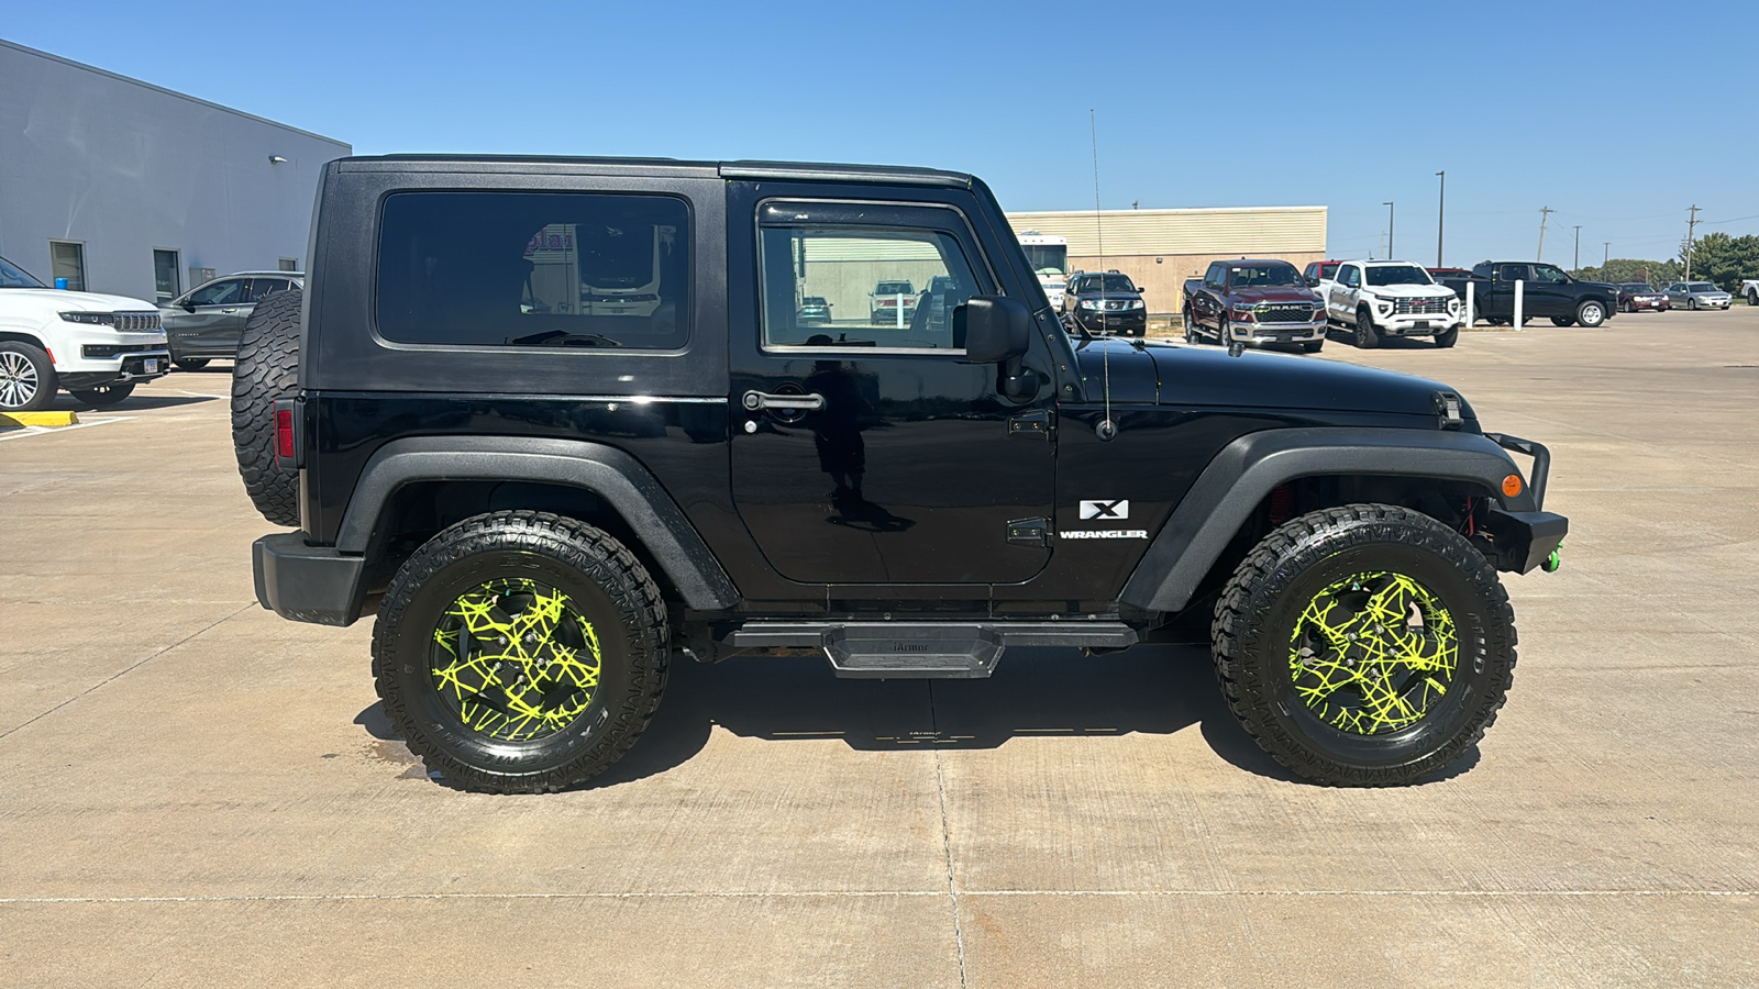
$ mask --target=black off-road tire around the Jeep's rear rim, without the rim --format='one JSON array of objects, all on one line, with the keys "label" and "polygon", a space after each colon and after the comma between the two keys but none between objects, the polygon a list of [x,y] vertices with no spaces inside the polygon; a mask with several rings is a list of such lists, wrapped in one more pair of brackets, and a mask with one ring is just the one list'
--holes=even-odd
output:
[{"label": "black off-road tire around the Jeep's rear rim, without the rim", "polygon": [[[500,579],[561,591],[598,635],[589,702],[535,741],[470,727],[431,665],[454,602]],[[390,581],[373,626],[373,678],[390,723],[429,773],[487,794],[556,792],[617,762],[660,706],[668,653],[665,602],[635,554],[603,530],[547,512],[473,516],[429,538]]]}]

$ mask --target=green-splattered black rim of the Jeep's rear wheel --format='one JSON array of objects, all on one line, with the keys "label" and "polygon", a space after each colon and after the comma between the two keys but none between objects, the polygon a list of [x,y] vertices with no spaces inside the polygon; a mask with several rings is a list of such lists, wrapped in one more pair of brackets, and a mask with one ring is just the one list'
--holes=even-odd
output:
[{"label": "green-splattered black rim of the Jeep's rear wheel", "polygon": [[429,648],[434,690],[471,732],[536,741],[593,702],[598,635],[573,598],[524,577],[478,584],[440,616]]}]

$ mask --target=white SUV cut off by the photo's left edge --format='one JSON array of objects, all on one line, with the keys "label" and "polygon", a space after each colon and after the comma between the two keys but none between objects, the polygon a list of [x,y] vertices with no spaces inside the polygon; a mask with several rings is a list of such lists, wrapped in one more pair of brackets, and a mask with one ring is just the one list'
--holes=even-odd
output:
[{"label": "white SUV cut off by the photo's left edge", "polygon": [[56,389],[116,405],[169,370],[158,306],[49,289],[0,257],[0,412],[46,408]]}]

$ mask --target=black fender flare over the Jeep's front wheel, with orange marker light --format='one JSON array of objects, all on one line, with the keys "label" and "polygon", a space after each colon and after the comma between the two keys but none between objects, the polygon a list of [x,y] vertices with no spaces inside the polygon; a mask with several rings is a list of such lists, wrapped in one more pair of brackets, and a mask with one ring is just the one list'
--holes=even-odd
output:
[{"label": "black fender flare over the Jeep's front wheel, with orange marker light", "polygon": [[1249,433],[1223,447],[1186,493],[1119,595],[1145,611],[1180,611],[1198,582],[1274,487],[1325,475],[1430,477],[1495,493],[1509,512],[1536,512],[1530,489],[1504,496],[1520,473],[1479,433],[1289,428]]}]

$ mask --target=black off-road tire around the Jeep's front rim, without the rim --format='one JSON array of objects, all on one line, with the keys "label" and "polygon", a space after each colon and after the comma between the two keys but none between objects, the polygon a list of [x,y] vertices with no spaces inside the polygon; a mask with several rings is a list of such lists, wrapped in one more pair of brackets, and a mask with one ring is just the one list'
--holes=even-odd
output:
[{"label": "black off-road tire around the Jeep's front rim, without the rim", "polygon": [[[1455,670],[1414,723],[1360,734],[1326,723],[1296,693],[1291,642],[1316,593],[1377,570],[1421,582],[1446,607]],[[1328,787],[1395,787],[1442,771],[1495,722],[1514,672],[1514,609],[1495,568],[1460,533],[1395,505],[1323,509],[1266,535],[1223,590],[1210,639],[1245,732]]]}]

